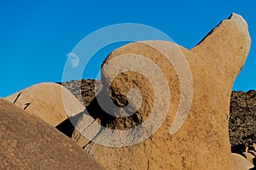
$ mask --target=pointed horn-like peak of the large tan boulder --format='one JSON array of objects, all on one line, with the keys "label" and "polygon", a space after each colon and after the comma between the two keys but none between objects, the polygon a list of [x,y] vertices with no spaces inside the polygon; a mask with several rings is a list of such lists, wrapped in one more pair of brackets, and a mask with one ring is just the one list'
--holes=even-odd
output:
[{"label": "pointed horn-like peak of the large tan boulder", "polygon": [[[218,26],[210,31],[195,48],[192,48],[194,54],[201,59],[214,61],[212,69],[219,64],[221,60],[224,63],[233,63],[236,60],[236,67],[233,65],[232,72],[241,70],[242,65],[247,58],[251,46],[251,38],[248,31],[247,21],[239,14],[231,14],[228,20],[223,20]],[[211,55],[209,55],[211,54]],[[231,65],[224,65],[230,68]],[[237,72],[238,73],[238,72]]]}]

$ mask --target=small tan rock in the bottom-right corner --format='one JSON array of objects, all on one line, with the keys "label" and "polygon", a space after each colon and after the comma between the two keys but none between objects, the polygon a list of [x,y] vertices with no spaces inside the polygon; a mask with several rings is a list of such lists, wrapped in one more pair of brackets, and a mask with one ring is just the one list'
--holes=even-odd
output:
[{"label": "small tan rock in the bottom-right corner", "polygon": [[232,159],[234,161],[234,170],[249,170],[254,167],[250,161],[247,161],[246,158],[239,154],[232,153]]}]

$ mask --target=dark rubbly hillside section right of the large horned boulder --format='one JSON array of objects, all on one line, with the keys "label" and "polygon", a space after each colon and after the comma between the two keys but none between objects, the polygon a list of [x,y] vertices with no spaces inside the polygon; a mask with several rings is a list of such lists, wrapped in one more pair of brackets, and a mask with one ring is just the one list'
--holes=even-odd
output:
[{"label": "dark rubbly hillside section right of the large horned boulder", "polygon": [[256,91],[233,92],[230,100],[230,143],[256,144]]}]

